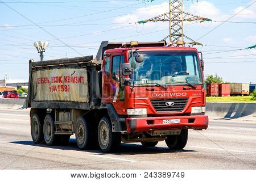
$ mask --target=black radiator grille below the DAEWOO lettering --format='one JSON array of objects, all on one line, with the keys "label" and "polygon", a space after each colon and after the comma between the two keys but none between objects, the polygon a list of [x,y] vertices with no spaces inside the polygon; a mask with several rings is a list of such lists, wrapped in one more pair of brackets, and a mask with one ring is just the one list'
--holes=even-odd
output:
[{"label": "black radiator grille below the DAEWOO lettering", "polygon": [[[153,107],[157,112],[180,112],[183,111],[188,98],[183,99],[151,99]],[[167,102],[173,102],[173,106],[166,106]]]}]

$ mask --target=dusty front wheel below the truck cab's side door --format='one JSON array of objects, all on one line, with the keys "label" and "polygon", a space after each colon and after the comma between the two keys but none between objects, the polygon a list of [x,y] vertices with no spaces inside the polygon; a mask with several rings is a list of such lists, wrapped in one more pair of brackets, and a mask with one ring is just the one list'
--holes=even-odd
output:
[{"label": "dusty front wheel below the truck cab's side door", "polygon": [[116,151],[121,144],[121,133],[112,132],[108,117],[102,117],[98,124],[98,143],[103,152]]}]

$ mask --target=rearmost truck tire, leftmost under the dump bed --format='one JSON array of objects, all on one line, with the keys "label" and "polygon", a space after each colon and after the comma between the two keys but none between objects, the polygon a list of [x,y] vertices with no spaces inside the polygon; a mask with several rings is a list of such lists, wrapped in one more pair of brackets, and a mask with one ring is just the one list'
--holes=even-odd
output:
[{"label": "rearmost truck tire, leftmost under the dump bed", "polygon": [[43,125],[40,122],[39,116],[34,114],[30,123],[31,137],[35,144],[44,142]]}]

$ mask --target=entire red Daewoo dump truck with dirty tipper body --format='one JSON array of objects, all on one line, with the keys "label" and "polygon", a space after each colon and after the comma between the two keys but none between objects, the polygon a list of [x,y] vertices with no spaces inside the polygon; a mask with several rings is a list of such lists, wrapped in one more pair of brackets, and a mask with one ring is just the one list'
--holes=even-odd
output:
[{"label": "entire red Daewoo dump truck with dirty tipper body", "polygon": [[208,128],[204,64],[195,48],[165,41],[109,43],[93,56],[29,64],[26,107],[35,144],[117,150],[121,142],[183,149]]}]

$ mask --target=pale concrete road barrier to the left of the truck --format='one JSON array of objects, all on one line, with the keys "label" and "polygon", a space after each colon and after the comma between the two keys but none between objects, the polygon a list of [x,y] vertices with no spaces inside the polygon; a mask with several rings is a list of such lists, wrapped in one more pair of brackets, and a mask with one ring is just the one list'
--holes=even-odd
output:
[{"label": "pale concrete road barrier to the left of the truck", "polygon": [[0,99],[0,108],[24,109],[26,99]]}]

